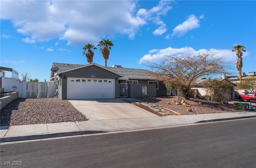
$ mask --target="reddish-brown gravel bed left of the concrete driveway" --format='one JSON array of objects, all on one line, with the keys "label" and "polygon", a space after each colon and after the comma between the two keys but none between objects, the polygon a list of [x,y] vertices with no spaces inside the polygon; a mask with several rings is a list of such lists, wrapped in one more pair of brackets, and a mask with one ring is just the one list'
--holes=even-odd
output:
[{"label": "reddish-brown gravel bed left of the concrete driveway", "polygon": [[59,98],[17,98],[0,114],[1,126],[88,120],[70,102]]}]

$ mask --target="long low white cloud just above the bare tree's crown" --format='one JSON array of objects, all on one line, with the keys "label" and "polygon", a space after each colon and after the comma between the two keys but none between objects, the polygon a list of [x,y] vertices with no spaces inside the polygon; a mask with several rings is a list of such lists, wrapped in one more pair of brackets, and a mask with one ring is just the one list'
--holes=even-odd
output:
[{"label": "long low white cloud just above the bare tree's crown", "polygon": [[[224,57],[226,61],[235,62],[236,61],[236,54],[229,49],[199,49],[196,51],[192,47],[182,47],[182,48],[172,48],[168,47],[166,49],[153,49],[148,52],[148,54],[144,55],[140,58],[139,64],[147,64],[150,62],[158,62],[162,58],[168,55],[179,55],[182,54],[186,55],[194,55],[196,53],[206,53],[212,52],[215,54],[216,57]],[[243,57],[248,56],[249,53],[244,53]]]}]

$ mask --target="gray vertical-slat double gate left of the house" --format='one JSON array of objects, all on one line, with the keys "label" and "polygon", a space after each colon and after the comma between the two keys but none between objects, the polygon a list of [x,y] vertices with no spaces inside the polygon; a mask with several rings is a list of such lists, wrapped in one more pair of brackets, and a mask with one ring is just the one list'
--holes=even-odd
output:
[{"label": "gray vertical-slat double gate left of the house", "polygon": [[48,84],[47,82],[28,82],[27,98],[47,98]]}]

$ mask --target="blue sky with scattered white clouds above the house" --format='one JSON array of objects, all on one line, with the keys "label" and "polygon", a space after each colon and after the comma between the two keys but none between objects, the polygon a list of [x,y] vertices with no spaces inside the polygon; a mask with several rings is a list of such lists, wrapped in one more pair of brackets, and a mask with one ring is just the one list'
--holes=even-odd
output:
[{"label": "blue sky with scattered white clouds above the house", "polygon": [[[82,47],[110,39],[108,66],[144,68],[177,52],[214,51],[242,72],[256,71],[256,1],[0,1],[0,65],[50,79],[52,63],[88,64]],[[99,48],[93,62],[104,66]],[[6,76],[11,76],[6,71]]]}]

